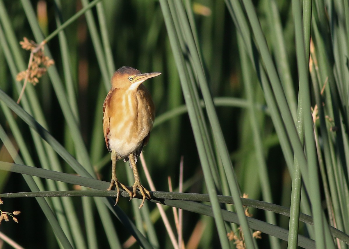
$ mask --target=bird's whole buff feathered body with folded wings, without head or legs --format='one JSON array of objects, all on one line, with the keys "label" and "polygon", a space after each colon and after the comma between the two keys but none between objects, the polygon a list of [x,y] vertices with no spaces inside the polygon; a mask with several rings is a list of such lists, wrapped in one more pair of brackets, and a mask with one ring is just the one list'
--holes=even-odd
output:
[{"label": "bird's whole buff feathered body with folded wings, without head or legs", "polygon": [[142,103],[145,98],[151,100],[149,91],[141,84],[132,92],[112,89],[104,101],[105,143],[109,150],[116,151],[118,159],[127,158],[131,153],[139,156],[148,142],[155,114],[153,101]]}]

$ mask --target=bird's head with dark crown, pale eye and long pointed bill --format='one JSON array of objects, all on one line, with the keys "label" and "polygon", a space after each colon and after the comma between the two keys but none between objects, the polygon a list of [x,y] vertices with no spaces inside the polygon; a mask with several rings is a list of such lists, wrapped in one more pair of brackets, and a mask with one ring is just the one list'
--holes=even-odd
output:
[{"label": "bird's head with dark crown, pale eye and long pointed bill", "polygon": [[132,67],[120,67],[111,78],[112,88],[136,90],[145,80],[158,76],[161,73],[141,74],[140,70]]}]

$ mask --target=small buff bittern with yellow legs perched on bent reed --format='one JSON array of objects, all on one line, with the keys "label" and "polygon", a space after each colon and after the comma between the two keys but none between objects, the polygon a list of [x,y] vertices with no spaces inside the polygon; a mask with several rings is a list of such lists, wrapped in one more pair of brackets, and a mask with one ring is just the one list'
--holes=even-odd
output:
[{"label": "small buff bittern with yellow legs perched on bent reed", "polygon": [[[149,190],[140,183],[136,161],[143,146],[149,141],[155,119],[153,99],[142,83],[160,74],[142,74],[138,69],[124,66],[116,70],[111,78],[111,89],[103,103],[103,133],[105,144],[111,151],[112,162],[112,178],[107,190],[111,190],[115,184],[115,205],[119,200],[119,185],[127,191],[130,200],[136,196],[136,189],[139,189],[143,198],[138,209],[143,206],[146,198],[151,198]],[[121,159],[129,161],[133,169],[132,192],[116,177],[116,161]]]}]

